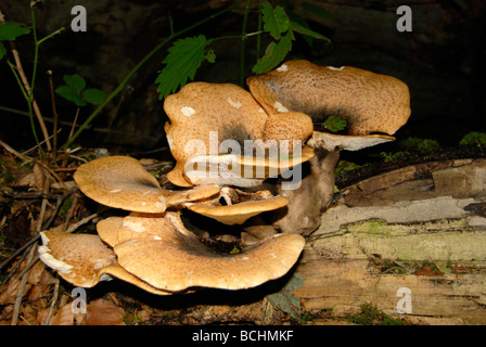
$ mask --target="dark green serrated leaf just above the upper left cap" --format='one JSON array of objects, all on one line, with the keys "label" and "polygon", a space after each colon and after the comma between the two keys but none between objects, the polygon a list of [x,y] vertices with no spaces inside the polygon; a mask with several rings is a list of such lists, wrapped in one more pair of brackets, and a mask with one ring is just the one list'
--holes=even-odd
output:
[{"label": "dark green serrated leaf just above the upper left cap", "polygon": [[[197,68],[206,57],[206,47],[210,41],[204,35],[177,40],[169,49],[169,54],[162,62],[166,66],[158,74],[159,99],[174,93],[179,86],[193,80]],[[210,56],[209,56],[210,59]]]}]

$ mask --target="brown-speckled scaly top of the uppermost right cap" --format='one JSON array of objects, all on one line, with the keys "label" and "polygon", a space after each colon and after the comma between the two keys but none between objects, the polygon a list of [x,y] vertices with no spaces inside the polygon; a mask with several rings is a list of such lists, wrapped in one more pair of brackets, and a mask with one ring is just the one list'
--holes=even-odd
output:
[{"label": "brown-speckled scaly top of the uppermost right cap", "polygon": [[335,68],[291,61],[250,77],[247,85],[269,114],[297,111],[318,120],[337,115],[347,120],[349,134],[393,134],[410,116],[406,83],[350,66]]}]

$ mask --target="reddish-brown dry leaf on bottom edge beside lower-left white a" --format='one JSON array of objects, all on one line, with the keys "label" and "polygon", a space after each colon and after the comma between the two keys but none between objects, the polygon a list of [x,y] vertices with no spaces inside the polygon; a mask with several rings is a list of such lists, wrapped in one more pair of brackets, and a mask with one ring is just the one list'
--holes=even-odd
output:
[{"label": "reddish-brown dry leaf on bottom edge beside lower-left white a", "polygon": [[87,306],[87,313],[82,325],[125,325],[125,311],[112,301],[103,298],[91,301]]}]

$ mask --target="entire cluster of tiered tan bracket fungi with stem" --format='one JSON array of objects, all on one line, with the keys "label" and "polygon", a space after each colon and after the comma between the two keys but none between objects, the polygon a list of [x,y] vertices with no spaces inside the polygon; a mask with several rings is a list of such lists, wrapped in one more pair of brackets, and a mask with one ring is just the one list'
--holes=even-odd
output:
[{"label": "entire cluster of tiered tan bracket fungi with stem", "polygon": [[[76,286],[118,278],[159,295],[248,288],[284,275],[304,248],[302,234],[317,228],[332,196],[338,152],[393,141],[389,134],[410,115],[408,88],[388,76],[304,61],[247,83],[251,92],[192,82],[165,100],[176,159],[167,179],[178,189],[161,188],[126,156],[81,165],[74,176],[80,190],[129,214],[98,222],[98,235],[46,231],[40,258]],[[330,114],[346,118],[347,134],[314,130],[312,119]],[[284,174],[303,165],[309,172],[284,189]],[[218,252],[182,222],[186,210],[246,227],[256,237],[242,232],[252,242],[243,240],[236,253]],[[266,211],[276,220],[260,218],[264,231],[255,232],[251,221]]]}]

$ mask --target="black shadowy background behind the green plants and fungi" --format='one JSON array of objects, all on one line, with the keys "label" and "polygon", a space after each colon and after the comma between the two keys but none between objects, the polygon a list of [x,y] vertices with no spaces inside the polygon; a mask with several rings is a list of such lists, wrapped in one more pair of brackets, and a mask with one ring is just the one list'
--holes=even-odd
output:
[{"label": "black shadowy background behind the green plants and fungi", "polygon": [[[111,93],[129,70],[169,33],[169,16],[176,30],[220,11],[233,1],[129,1],[79,0],[41,1],[36,7],[38,37],[60,27],[66,30],[40,47],[35,95],[46,118],[52,118],[49,79],[63,82],[63,75],[79,74],[88,87]],[[302,37],[294,41],[286,60],[306,59],[319,65],[350,65],[395,76],[410,88],[412,115],[397,139],[419,137],[436,139],[443,146],[455,146],[470,131],[486,130],[486,5],[481,0],[296,0],[274,1],[306,18],[309,26],[328,36],[332,44]],[[323,13],[308,11],[308,4]],[[73,33],[71,9],[87,10],[88,29]],[[255,9],[257,1],[252,2]],[[307,4],[307,7],[306,7]],[[412,10],[411,33],[399,33],[396,10],[407,4]],[[244,2],[235,11],[208,22],[186,36],[207,38],[240,35]],[[2,0],[0,10],[7,21],[30,24],[29,1]],[[257,15],[248,16],[247,31],[257,28]],[[264,40],[263,48],[268,41]],[[27,76],[31,76],[34,49],[31,36],[16,42]],[[8,47],[8,46],[7,46]],[[256,62],[255,39],[246,41],[246,77]],[[122,99],[116,97],[95,118],[93,128],[77,139],[84,147],[106,147],[112,153],[149,153],[166,147],[163,101],[154,83],[166,47],[130,79]],[[195,80],[239,82],[240,41],[218,41],[212,48],[215,64],[203,63]],[[10,52],[8,59],[12,60]],[[27,111],[24,98],[5,64],[0,61],[0,139],[17,150],[35,145],[28,117],[4,107]],[[76,114],[74,104],[56,97],[63,130],[60,143],[69,132]],[[79,123],[92,112],[82,107]],[[52,123],[47,123],[52,132]],[[38,131],[41,138],[40,130]],[[162,150],[153,157],[167,155]]]}]

